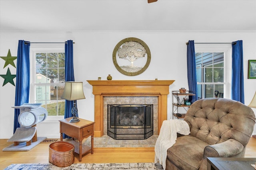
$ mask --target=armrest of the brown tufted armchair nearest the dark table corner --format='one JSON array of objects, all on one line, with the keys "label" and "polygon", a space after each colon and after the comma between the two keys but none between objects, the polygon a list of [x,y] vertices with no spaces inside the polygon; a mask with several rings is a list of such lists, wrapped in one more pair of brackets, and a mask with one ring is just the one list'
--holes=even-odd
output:
[{"label": "armrest of the brown tufted armchair nearest the dark table corner", "polygon": [[225,142],[205,147],[204,157],[232,157],[242,152],[243,149],[242,143],[228,139]]}]

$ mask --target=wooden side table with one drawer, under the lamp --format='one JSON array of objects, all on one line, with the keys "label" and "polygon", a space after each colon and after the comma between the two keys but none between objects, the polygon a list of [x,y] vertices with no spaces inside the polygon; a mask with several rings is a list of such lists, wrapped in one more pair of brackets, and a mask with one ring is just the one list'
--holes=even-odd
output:
[{"label": "wooden side table with one drawer, under the lamp", "polygon": [[[72,140],[68,141],[75,146],[75,152],[79,154],[79,162],[82,161],[82,155],[88,152],[93,154],[93,136],[94,136],[94,123],[93,121],[88,121],[79,118],[79,122],[70,123],[72,117],[59,120],[60,121],[60,141],[63,141],[63,133],[66,135],[76,138],[78,142]],[[91,136],[91,147],[82,145],[84,138]]]}]

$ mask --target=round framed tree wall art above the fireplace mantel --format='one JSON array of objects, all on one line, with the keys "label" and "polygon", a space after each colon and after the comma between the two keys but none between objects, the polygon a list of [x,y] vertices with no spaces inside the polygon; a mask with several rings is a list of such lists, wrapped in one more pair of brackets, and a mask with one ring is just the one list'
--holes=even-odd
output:
[{"label": "round framed tree wall art above the fireplace mantel", "polygon": [[127,76],[144,72],[151,60],[151,54],[144,41],[130,37],[120,41],[113,51],[113,63],[117,70]]}]

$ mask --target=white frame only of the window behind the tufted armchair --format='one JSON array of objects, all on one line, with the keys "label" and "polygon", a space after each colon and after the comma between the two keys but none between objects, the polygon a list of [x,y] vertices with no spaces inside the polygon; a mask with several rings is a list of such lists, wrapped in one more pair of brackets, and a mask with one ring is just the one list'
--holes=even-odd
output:
[{"label": "white frame only of the window behind the tufted armchair", "polygon": [[[224,96],[231,99],[232,44],[195,44],[196,53],[224,53]],[[218,84],[197,82],[197,84]],[[223,84],[223,83],[221,83]]]}]

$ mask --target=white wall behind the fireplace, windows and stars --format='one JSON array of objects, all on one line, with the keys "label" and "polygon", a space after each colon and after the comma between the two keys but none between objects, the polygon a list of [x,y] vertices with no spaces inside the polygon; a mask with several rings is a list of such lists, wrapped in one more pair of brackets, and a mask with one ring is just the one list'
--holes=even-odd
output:
[{"label": "white wall behind the fireplace, windows and stars", "polygon": [[[248,60],[256,59],[256,32],[228,31],[78,31],[78,32],[0,32],[0,56],[6,56],[10,49],[12,56],[17,56],[18,40],[30,42],[64,42],[72,39],[74,44],[75,80],[84,83],[86,99],[78,100],[79,117],[94,121],[94,95],[92,86],[86,80],[96,80],[99,76],[106,80],[111,74],[112,80],[175,80],[170,86],[172,90],[180,87],[188,89],[186,71],[186,42],[232,42],[243,40],[244,49],[244,92],[245,104],[248,105],[256,91],[256,79],[247,79]],[[127,37],[142,39],[151,51],[151,62],[148,69],[138,76],[126,76],[118,72],[112,62],[115,45]],[[62,44],[64,47],[64,44]],[[44,44],[31,44],[30,49]],[[14,61],[16,63],[16,60]],[[0,74],[6,74],[10,68],[16,74],[16,68],[10,64],[4,67],[0,59]],[[15,82],[16,78],[14,78]],[[9,139],[13,134],[15,87],[8,83],[2,86],[4,79],[0,77],[0,139]],[[168,119],[172,112],[172,96],[168,95]],[[256,113],[256,109],[254,109]],[[37,125],[38,136],[59,137],[58,120],[46,120]],[[254,133],[256,135],[256,128]]]}]

